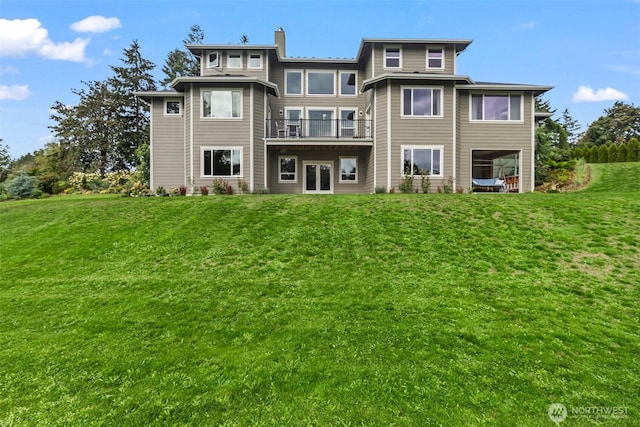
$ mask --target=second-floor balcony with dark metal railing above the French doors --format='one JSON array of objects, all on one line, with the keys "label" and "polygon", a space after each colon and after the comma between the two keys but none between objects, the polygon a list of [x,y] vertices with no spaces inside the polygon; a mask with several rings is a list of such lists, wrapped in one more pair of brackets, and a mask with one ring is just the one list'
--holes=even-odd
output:
[{"label": "second-floor balcony with dark metal railing above the French doors", "polygon": [[370,139],[371,120],[268,119],[268,139]]}]

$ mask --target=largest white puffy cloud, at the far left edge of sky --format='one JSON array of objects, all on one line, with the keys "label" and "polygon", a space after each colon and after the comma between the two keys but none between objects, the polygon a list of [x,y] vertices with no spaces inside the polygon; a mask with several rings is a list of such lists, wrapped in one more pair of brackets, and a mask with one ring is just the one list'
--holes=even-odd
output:
[{"label": "largest white puffy cloud, at the far left edge of sky", "polygon": [[49,32],[37,19],[0,19],[0,56],[25,57],[36,54],[47,59],[84,61],[84,50],[90,39],[54,43]]}]

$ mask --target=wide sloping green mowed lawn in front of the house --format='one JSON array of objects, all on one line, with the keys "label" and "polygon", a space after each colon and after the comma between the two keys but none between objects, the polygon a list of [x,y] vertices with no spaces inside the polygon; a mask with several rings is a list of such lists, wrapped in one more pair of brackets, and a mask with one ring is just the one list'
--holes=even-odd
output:
[{"label": "wide sloping green mowed lawn in front of the house", "polygon": [[0,425],[638,425],[639,175],[2,203]]}]

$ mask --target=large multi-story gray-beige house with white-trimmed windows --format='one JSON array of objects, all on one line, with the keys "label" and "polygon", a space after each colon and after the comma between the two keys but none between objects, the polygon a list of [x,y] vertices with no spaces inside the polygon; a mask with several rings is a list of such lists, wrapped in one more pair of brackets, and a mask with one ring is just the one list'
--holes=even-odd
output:
[{"label": "large multi-story gray-beige house with white-trimmed windows", "polygon": [[373,193],[429,174],[432,191],[492,178],[531,191],[534,97],[552,87],[458,74],[470,44],[363,39],[354,59],[294,58],[278,28],[273,45],[188,46],[200,76],[137,93],[151,105],[151,188],[193,192],[222,179],[272,193]]}]

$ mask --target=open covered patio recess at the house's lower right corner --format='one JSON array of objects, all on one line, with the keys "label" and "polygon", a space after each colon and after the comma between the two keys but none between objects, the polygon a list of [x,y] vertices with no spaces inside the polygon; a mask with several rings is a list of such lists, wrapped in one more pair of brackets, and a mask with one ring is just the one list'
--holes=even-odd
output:
[{"label": "open covered patio recess at the house's lower right corner", "polygon": [[471,177],[474,192],[520,191],[519,150],[472,150]]}]

